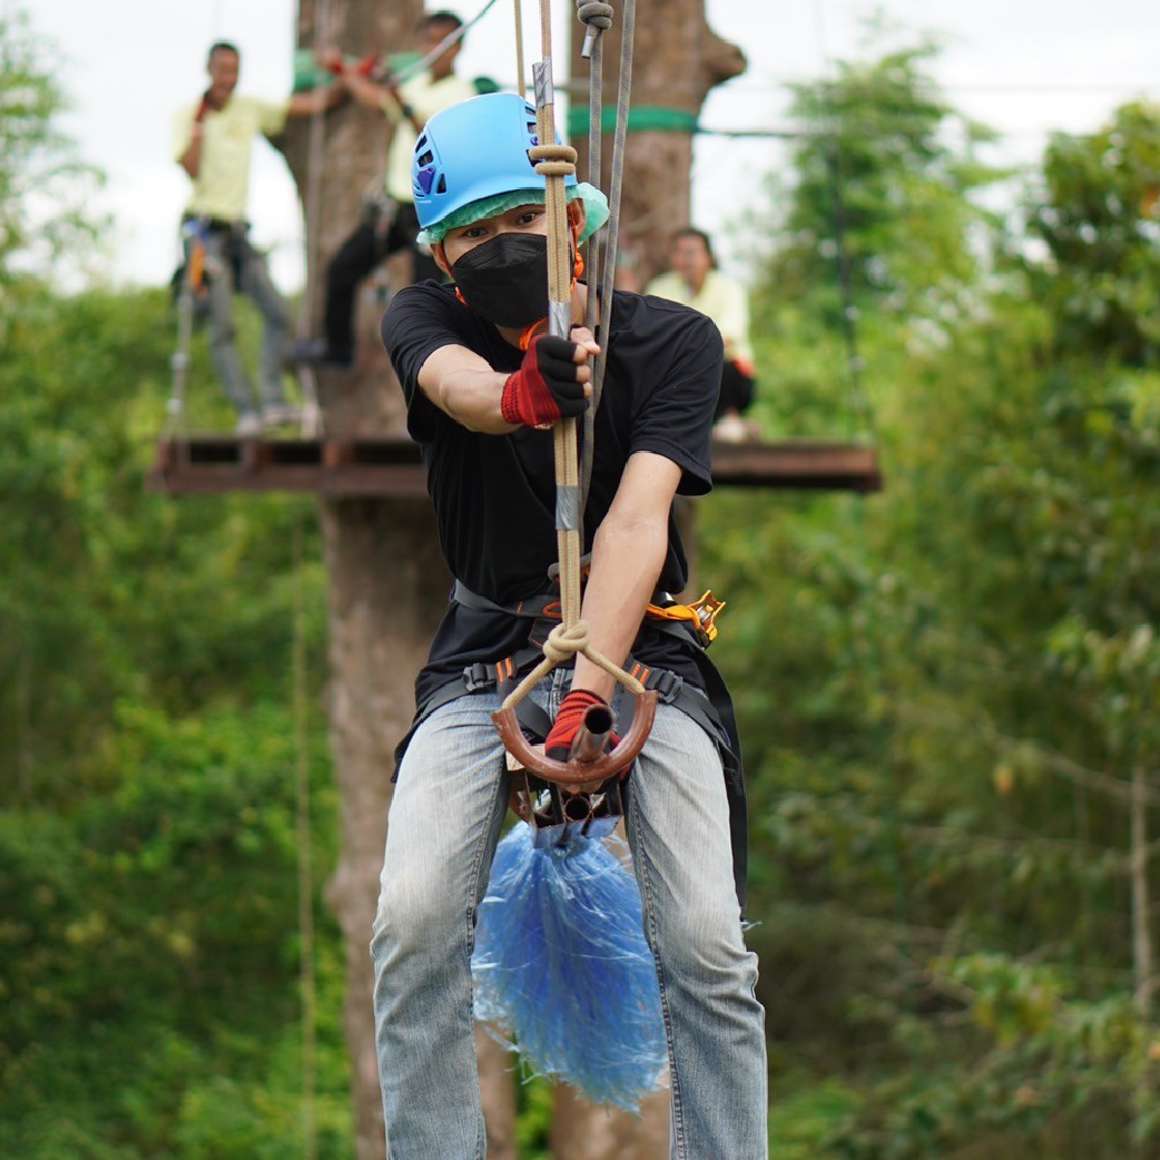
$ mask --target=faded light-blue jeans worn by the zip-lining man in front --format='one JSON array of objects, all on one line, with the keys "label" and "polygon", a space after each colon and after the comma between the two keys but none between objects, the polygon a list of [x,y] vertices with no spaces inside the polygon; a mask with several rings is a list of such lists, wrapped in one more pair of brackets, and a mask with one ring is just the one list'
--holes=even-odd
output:
[{"label": "faded light-blue jeans worn by the zip-lining man in front", "polygon": [[[571,673],[532,695],[554,713]],[[375,959],[375,1025],[391,1160],[481,1160],[471,1013],[476,907],[510,777],[494,693],[437,709],[407,749],[391,804]],[[764,1160],[764,1013],[733,885],[720,760],[658,706],[625,819],[668,1037],[672,1160]]]}]

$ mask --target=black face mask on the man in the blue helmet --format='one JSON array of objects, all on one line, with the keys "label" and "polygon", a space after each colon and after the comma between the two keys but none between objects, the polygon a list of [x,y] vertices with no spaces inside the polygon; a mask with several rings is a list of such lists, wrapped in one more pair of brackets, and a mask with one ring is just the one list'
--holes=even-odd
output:
[{"label": "black face mask on the man in the blue helmet", "polygon": [[512,329],[548,318],[548,238],[501,233],[451,267],[459,293],[477,313]]}]

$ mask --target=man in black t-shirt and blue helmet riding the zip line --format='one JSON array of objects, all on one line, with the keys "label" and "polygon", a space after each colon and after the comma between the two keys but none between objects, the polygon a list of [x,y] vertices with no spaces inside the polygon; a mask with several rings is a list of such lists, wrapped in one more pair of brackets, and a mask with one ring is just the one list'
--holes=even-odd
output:
[{"label": "man in black t-shirt and blue helmet riding the zip line", "polygon": [[[575,281],[571,336],[542,333],[546,216],[544,179],[528,158],[535,135],[535,109],[512,93],[432,118],[415,148],[415,205],[420,237],[455,285],[408,288],[383,320],[459,592],[416,681],[371,944],[392,1160],[484,1154],[470,956],[510,777],[491,722],[501,696],[472,674],[530,652],[531,621],[517,609],[549,590],[557,551],[546,428],[588,406],[599,350],[580,325],[588,290]],[[607,219],[607,203],[574,179],[567,196],[578,248]],[[744,864],[735,738],[706,696],[719,701],[724,686],[697,641],[645,617],[659,589],[679,592],[688,579],[672,506],[677,493],[711,486],[722,339],[683,306],[617,293],[607,342],[582,616],[596,651],[615,661],[631,653],[682,689],[658,706],[625,819],[666,1017],[673,1155],[760,1160],[764,1032],[734,878]],[[532,696],[553,722],[548,753],[563,757],[586,709],[611,702],[615,711],[622,699],[582,655]]]}]

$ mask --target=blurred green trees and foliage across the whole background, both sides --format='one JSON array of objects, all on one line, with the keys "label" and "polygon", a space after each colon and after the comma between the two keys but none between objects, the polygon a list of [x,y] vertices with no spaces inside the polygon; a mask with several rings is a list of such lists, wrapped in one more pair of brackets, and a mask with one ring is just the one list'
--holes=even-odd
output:
[{"label": "blurred green trees and foliage across the whole background, both sides", "polygon": [[[872,438],[886,491],[698,503],[773,1154],[1154,1155],[1160,110],[1052,140],[999,215],[1012,176],[933,56],[803,86],[745,224],[763,429]],[[37,258],[32,169],[96,180],[38,59],[5,17],[0,88],[28,100],[0,102],[0,1154],[298,1151],[305,760],[319,1155],[346,1157],[317,522],[145,487],[171,303],[63,293]],[[99,232],[67,198],[53,229]],[[204,350],[194,379],[224,419]],[[527,1160],[549,1122],[525,1088]]]}]

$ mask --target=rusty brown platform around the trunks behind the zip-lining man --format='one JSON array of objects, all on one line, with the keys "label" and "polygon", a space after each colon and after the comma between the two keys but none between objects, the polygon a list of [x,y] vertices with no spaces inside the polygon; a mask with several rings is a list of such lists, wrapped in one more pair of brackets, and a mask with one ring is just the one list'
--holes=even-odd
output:
[{"label": "rusty brown platform around the trunks behind the zip-lining man", "polygon": [[[882,474],[873,448],[861,443],[713,442],[713,483],[873,492]],[[150,485],[172,494],[318,492],[333,496],[427,494],[419,447],[406,437],[237,438],[191,435],[158,444]]]}]

